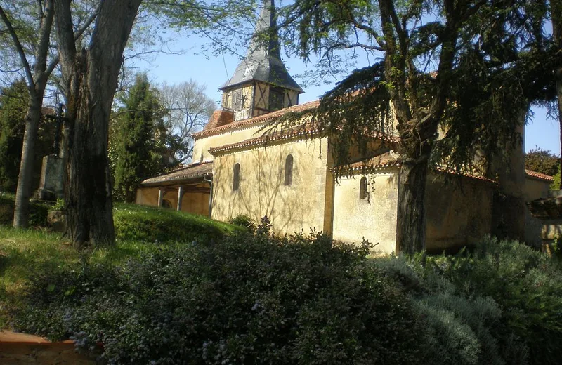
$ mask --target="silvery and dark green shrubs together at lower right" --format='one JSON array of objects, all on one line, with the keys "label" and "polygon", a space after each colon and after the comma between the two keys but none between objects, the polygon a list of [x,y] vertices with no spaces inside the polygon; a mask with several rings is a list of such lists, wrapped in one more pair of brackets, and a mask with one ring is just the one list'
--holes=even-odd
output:
[{"label": "silvery and dark green shrubs together at lower right", "polygon": [[375,261],[410,293],[431,364],[558,364],[562,270],[514,241],[484,239],[473,252]]}]

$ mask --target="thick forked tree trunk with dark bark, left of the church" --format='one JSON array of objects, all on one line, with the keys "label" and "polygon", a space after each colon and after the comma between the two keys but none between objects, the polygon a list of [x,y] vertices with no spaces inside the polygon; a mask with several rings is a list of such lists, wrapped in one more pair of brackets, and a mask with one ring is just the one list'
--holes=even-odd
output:
[{"label": "thick forked tree trunk with dark bark, left of the church", "polygon": [[141,0],[103,1],[91,43],[77,52],[71,0],[55,0],[55,22],[69,125],[65,208],[74,246],[115,244],[109,117],[123,51]]}]

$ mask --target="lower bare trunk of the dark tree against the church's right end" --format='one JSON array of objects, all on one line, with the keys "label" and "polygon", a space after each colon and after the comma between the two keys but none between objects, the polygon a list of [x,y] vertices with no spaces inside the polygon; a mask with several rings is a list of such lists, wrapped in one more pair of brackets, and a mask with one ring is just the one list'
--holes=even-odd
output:
[{"label": "lower bare trunk of the dark tree against the church's right end", "polygon": [[400,253],[425,250],[427,159],[406,161],[398,177],[398,217],[396,240]]}]

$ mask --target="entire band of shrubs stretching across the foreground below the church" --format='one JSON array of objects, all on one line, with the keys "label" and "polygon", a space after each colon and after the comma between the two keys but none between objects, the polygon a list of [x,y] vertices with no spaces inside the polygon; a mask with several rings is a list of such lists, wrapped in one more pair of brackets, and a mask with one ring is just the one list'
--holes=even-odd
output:
[{"label": "entire band of shrubs stretching across the foreground below the church", "polygon": [[34,277],[22,331],[110,364],[558,364],[562,271],[513,241],[367,259],[318,233],[155,249]]}]

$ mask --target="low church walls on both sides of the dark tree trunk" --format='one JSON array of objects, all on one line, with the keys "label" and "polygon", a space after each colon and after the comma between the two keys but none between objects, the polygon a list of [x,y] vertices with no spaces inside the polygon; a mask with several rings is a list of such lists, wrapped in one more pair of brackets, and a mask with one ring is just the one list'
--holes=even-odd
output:
[{"label": "low church walls on both sides of the dark tree trunk", "polygon": [[[367,197],[360,199],[361,175],[336,183],[334,239],[377,243],[377,253],[396,252],[398,168],[367,176]],[[439,252],[473,244],[490,234],[495,186],[470,178],[429,174],[426,187],[426,248]]]}]

